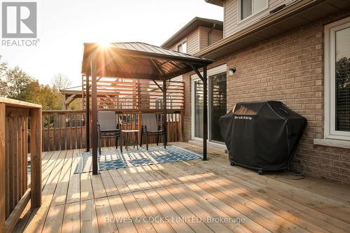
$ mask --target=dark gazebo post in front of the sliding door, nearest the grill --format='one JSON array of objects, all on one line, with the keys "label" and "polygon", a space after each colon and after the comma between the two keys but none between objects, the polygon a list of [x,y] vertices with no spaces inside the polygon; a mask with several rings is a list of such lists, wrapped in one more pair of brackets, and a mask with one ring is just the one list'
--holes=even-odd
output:
[{"label": "dark gazebo post in front of the sliding door, nearest the grill", "polygon": [[203,66],[203,159],[207,160],[208,139],[208,78],[207,66]]}]

